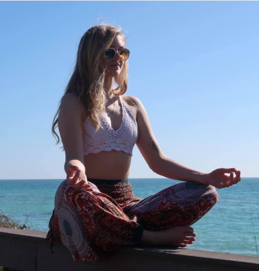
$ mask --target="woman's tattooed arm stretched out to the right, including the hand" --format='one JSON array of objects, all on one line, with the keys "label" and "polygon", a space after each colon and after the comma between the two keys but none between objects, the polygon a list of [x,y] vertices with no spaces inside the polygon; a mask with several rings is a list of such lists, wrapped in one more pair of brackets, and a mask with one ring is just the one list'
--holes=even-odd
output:
[{"label": "woman's tattooed arm stretched out to the right, including the hand", "polygon": [[[201,184],[214,185],[218,188],[233,185],[240,180],[240,171],[234,168],[217,169],[207,174],[181,165],[166,157],[155,139],[144,106],[136,97],[131,98],[137,105],[137,124],[139,129],[137,146],[152,171],[169,179],[196,181]],[[236,174],[235,178],[233,172]],[[230,176],[225,175],[225,173],[230,173]]]}]

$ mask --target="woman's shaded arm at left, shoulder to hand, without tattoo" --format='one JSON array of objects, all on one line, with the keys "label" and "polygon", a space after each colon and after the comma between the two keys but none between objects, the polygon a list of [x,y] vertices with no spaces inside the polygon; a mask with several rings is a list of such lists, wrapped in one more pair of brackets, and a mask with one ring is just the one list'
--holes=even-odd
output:
[{"label": "woman's shaded arm at left, shoulder to hand, without tattoo", "polygon": [[[58,130],[66,154],[64,165],[67,184],[74,188],[89,188],[83,157],[82,114],[84,107],[78,97],[65,95],[58,115]],[[89,189],[91,190],[91,189]]]}]

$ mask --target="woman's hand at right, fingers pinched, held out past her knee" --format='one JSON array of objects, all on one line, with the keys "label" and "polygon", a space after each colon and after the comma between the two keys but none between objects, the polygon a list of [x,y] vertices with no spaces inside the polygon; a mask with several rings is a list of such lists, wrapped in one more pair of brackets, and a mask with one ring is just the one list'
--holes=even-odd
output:
[{"label": "woman's hand at right, fingers pinched, held out past her knee", "polygon": [[206,177],[206,183],[208,185],[213,185],[216,188],[229,187],[241,181],[240,171],[235,168],[218,168],[210,172]]}]

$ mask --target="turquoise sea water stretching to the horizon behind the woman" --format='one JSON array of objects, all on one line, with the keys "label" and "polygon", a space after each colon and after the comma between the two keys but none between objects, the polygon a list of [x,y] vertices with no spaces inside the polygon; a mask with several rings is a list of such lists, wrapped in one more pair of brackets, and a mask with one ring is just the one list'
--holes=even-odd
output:
[{"label": "turquoise sea water stretching to the horizon behind the woman", "polygon": [[[0,211],[33,230],[48,231],[54,196],[62,180],[0,180]],[[134,194],[145,198],[178,181],[130,179]],[[217,189],[220,200],[193,227],[197,240],[189,248],[257,256],[259,253],[259,178]],[[253,229],[254,225],[254,229]],[[258,254],[259,256],[259,254]]]}]

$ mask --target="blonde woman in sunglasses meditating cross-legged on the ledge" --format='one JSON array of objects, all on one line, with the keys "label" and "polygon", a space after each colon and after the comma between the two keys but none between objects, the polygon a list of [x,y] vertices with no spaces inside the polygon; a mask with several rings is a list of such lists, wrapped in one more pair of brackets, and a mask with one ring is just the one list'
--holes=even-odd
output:
[{"label": "blonde woman in sunglasses meditating cross-legged on the ledge", "polygon": [[[215,187],[240,180],[234,168],[205,174],[163,154],[140,100],[124,95],[129,54],[120,29],[86,31],[53,120],[67,178],[57,189],[47,238],[67,246],[75,261],[106,261],[125,245],[186,247],[196,236],[190,226],[218,200]],[[135,143],[154,172],[185,182],[135,198],[128,182]]]}]

